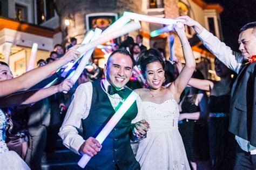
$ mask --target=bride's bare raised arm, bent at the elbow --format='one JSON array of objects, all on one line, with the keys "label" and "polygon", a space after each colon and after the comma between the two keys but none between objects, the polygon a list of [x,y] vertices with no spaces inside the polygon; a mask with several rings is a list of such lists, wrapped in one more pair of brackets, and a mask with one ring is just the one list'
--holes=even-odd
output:
[{"label": "bride's bare raised arm, bent at the elbow", "polygon": [[186,61],[186,64],[181,70],[177,79],[174,81],[174,83],[172,83],[169,86],[169,89],[174,94],[174,98],[176,99],[176,101],[178,101],[180,94],[185,89],[188,81],[190,80],[194,72],[194,69],[196,68],[196,60],[194,59],[194,55],[193,55],[190,43],[187,40],[184,25],[182,28],[178,28],[176,25],[174,25],[174,29],[179,36],[181,46],[183,49],[184,58]]}]

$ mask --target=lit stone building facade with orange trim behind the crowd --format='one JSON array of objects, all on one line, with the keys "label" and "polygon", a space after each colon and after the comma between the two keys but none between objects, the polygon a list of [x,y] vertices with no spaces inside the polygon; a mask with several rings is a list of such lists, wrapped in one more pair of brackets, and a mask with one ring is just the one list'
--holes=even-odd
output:
[{"label": "lit stone building facade with orange trim behind the crowd", "polygon": [[[124,11],[165,18],[188,15],[222,39],[219,15],[223,8],[218,4],[206,4],[203,0],[1,0],[0,2],[1,23],[8,23],[0,26],[0,59],[9,63],[11,70],[17,72],[16,75],[22,73],[21,68],[16,71],[18,66],[22,65],[22,61],[23,67],[26,67],[32,43],[38,43],[38,59],[48,57],[49,51],[53,50],[55,44],[62,43],[65,46],[71,37],[77,38],[78,43],[81,43],[90,29],[106,28],[122,16]],[[175,55],[183,59],[181,44],[174,32],[151,37],[151,31],[163,28],[165,25],[146,22],[141,22],[141,25],[140,30],[129,33],[129,36],[135,39],[136,35],[141,34],[144,37],[143,44],[147,48],[161,47],[169,53],[167,37],[174,35]],[[208,64],[207,70],[211,73],[206,73],[208,74],[206,77],[215,79],[214,71],[211,71],[214,57],[194,36],[193,29],[186,27],[186,32],[197,62]],[[103,58],[100,53],[95,56]]]}]

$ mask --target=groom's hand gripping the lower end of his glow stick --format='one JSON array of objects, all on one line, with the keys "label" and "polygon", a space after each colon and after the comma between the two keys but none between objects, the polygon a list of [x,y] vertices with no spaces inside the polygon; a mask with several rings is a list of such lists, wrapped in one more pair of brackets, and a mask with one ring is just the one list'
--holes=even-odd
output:
[{"label": "groom's hand gripping the lower end of his glow stick", "polygon": [[98,140],[90,137],[80,146],[78,153],[87,154],[90,157],[93,157],[94,155],[97,155],[101,148],[102,145],[99,144]]}]

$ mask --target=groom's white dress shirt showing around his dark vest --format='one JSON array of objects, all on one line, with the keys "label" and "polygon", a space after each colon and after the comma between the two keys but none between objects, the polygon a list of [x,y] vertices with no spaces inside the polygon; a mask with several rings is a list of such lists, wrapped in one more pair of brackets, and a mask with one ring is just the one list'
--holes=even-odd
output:
[{"label": "groom's white dress shirt showing around his dark vest", "polygon": [[[110,85],[109,81],[104,79],[103,85],[105,87],[105,92],[107,92],[107,87]],[[112,97],[109,96],[109,99],[111,105],[115,109],[120,101],[122,101],[122,99],[118,94],[113,94]],[[59,136],[60,138],[62,138],[63,144],[77,154],[79,154],[78,149],[85,141],[83,137],[78,134],[77,129],[81,126],[81,119],[87,118],[90,112],[91,101],[92,83],[87,82],[79,85],[75,94],[73,95],[62,127],[60,127],[59,130]],[[138,98],[136,101],[138,107],[138,116],[136,117],[136,120],[138,120],[138,118],[140,117],[139,115],[142,112],[142,107],[140,107],[142,101],[140,100],[140,98]],[[134,123],[134,121],[132,121],[132,123]]]}]

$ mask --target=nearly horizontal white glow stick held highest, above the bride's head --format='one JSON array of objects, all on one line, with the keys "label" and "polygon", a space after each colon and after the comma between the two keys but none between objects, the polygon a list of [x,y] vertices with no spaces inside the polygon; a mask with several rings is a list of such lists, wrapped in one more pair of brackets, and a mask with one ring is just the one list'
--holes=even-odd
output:
[{"label": "nearly horizontal white glow stick held highest, above the bride's head", "polygon": [[173,25],[177,22],[185,22],[184,19],[152,17],[152,16],[142,15],[142,14],[138,14],[138,13],[126,12],[126,11],[124,12],[124,16],[127,16],[134,20],[145,21],[145,22],[150,22],[150,23],[165,24],[165,25]]}]

